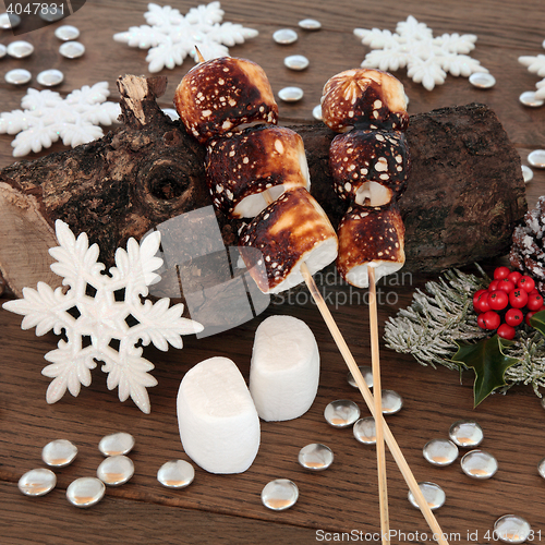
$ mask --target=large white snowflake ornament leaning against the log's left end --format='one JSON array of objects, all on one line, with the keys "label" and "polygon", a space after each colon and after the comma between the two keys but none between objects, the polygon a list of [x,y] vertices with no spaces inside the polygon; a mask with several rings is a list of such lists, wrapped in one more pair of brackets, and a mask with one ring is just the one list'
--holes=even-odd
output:
[{"label": "large white snowflake ornament leaning against the log's left end", "polygon": [[162,259],[155,254],[159,249],[160,233],[154,232],[142,243],[130,239],[126,251],[116,252],[116,267],[102,272],[105,265],[97,263],[99,247],[88,245],[86,233],[74,237],[66,223],[56,222],[59,246],[49,253],[57,259],[51,270],[63,277],[65,288],[55,291],[45,282],[37,290],[23,289],[23,299],[3,304],[8,311],[24,316],[21,327],[36,327],[41,336],[51,329],[65,338],[57,350],[45,355],[50,365],[41,372],[53,378],[47,389],[48,403],[58,401],[68,390],[80,393],[81,385],[90,384],[90,372],[98,362],[108,373],[108,389],[119,387],[119,399],[129,396],[145,413],[149,413],[147,387],[157,380],[147,372],[154,368],[142,358],[143,349],[152,342],[159,350],[171,344],[182,348],[182,335],[198,332],[201,324],[181,317],[183,305],[171,307],[169,299],[155,304],[142,301],[148,286],[160,276],[155,271]]}]

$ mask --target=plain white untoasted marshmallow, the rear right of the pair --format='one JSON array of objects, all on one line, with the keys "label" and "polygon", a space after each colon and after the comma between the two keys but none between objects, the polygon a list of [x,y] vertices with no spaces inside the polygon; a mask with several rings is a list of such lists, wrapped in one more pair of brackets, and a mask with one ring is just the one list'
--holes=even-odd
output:
[{"label": "plain white untoasted marshmallow, the rear right of the pair", "polygon": [[255,332],[250,393],[259,416],[284,421],[303,415],[319,382],[319,352],[310,327],[292,316],[270,316]]}]

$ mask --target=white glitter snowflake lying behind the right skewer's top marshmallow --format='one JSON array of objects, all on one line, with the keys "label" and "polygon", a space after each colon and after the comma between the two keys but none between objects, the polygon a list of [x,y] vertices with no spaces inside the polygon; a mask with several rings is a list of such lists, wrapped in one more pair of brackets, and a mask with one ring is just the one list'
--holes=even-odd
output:
[{"label": "white glitter snowflake lying behind the right skewer's top marshmallow", "polygon": [[434,38],[432,28],[412,15],[398,23],[396,33],[378,28],[355,28],[354,34],[373,51],[365,56],[362,66],[395,72],[407,66],[415,83],[432,90],[445,83],[447,73],[469,77],[474,72],[488,72],[469,57],[477,37],[473,34],[444,34]]}]

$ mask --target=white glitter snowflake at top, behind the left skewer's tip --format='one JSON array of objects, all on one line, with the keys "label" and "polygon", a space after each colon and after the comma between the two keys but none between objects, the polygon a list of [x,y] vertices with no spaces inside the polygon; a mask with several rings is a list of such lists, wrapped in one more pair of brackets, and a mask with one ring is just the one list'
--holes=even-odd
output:
[{"label": "white glitter snowflake at top, behind the left skewer's tip", "polygon": [[219,2],[192,8],[186,15],[170,5],[161,8],[150,3],[144,13],[147,25],[131,26],[128,32],[116,34],[113,39],[131,47],[149,49],[146,57],[149,72],[160,72],[164,68],[172,70],[182,64],[187,55],[198,62],[195,46],[209,60],[228,57],[226,46],[243,44],[245,39],[257,36],[257,31],[253,28],[221,23],[223,14]]}]

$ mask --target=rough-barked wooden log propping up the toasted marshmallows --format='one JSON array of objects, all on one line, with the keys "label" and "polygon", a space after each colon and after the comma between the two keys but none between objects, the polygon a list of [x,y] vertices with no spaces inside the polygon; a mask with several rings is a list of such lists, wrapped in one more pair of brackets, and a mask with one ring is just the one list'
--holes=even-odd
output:
[{"label": "rough-barked wooden log propping up the toasted marshmallows", "polygon": [[[157,106],[166,77],[123,76],[122,125],[102,138],[0,171],[0,271],[11,290],[43,280],[58,286],[48,249],[62,219],[86,231],[113,263],[118,246],[155,226],[208,206],[205,149]],[[328,171],[335,134],[298,125],[305,143],[312,193],[336,225],[347,204]],[[506,254],[526,203],[520,158],[495,113],[483,105],[411,117],[412,169],[400,201],[407,268],[437,271]],[[240,222],[218,214],[223,242],[237,243]]]}]

